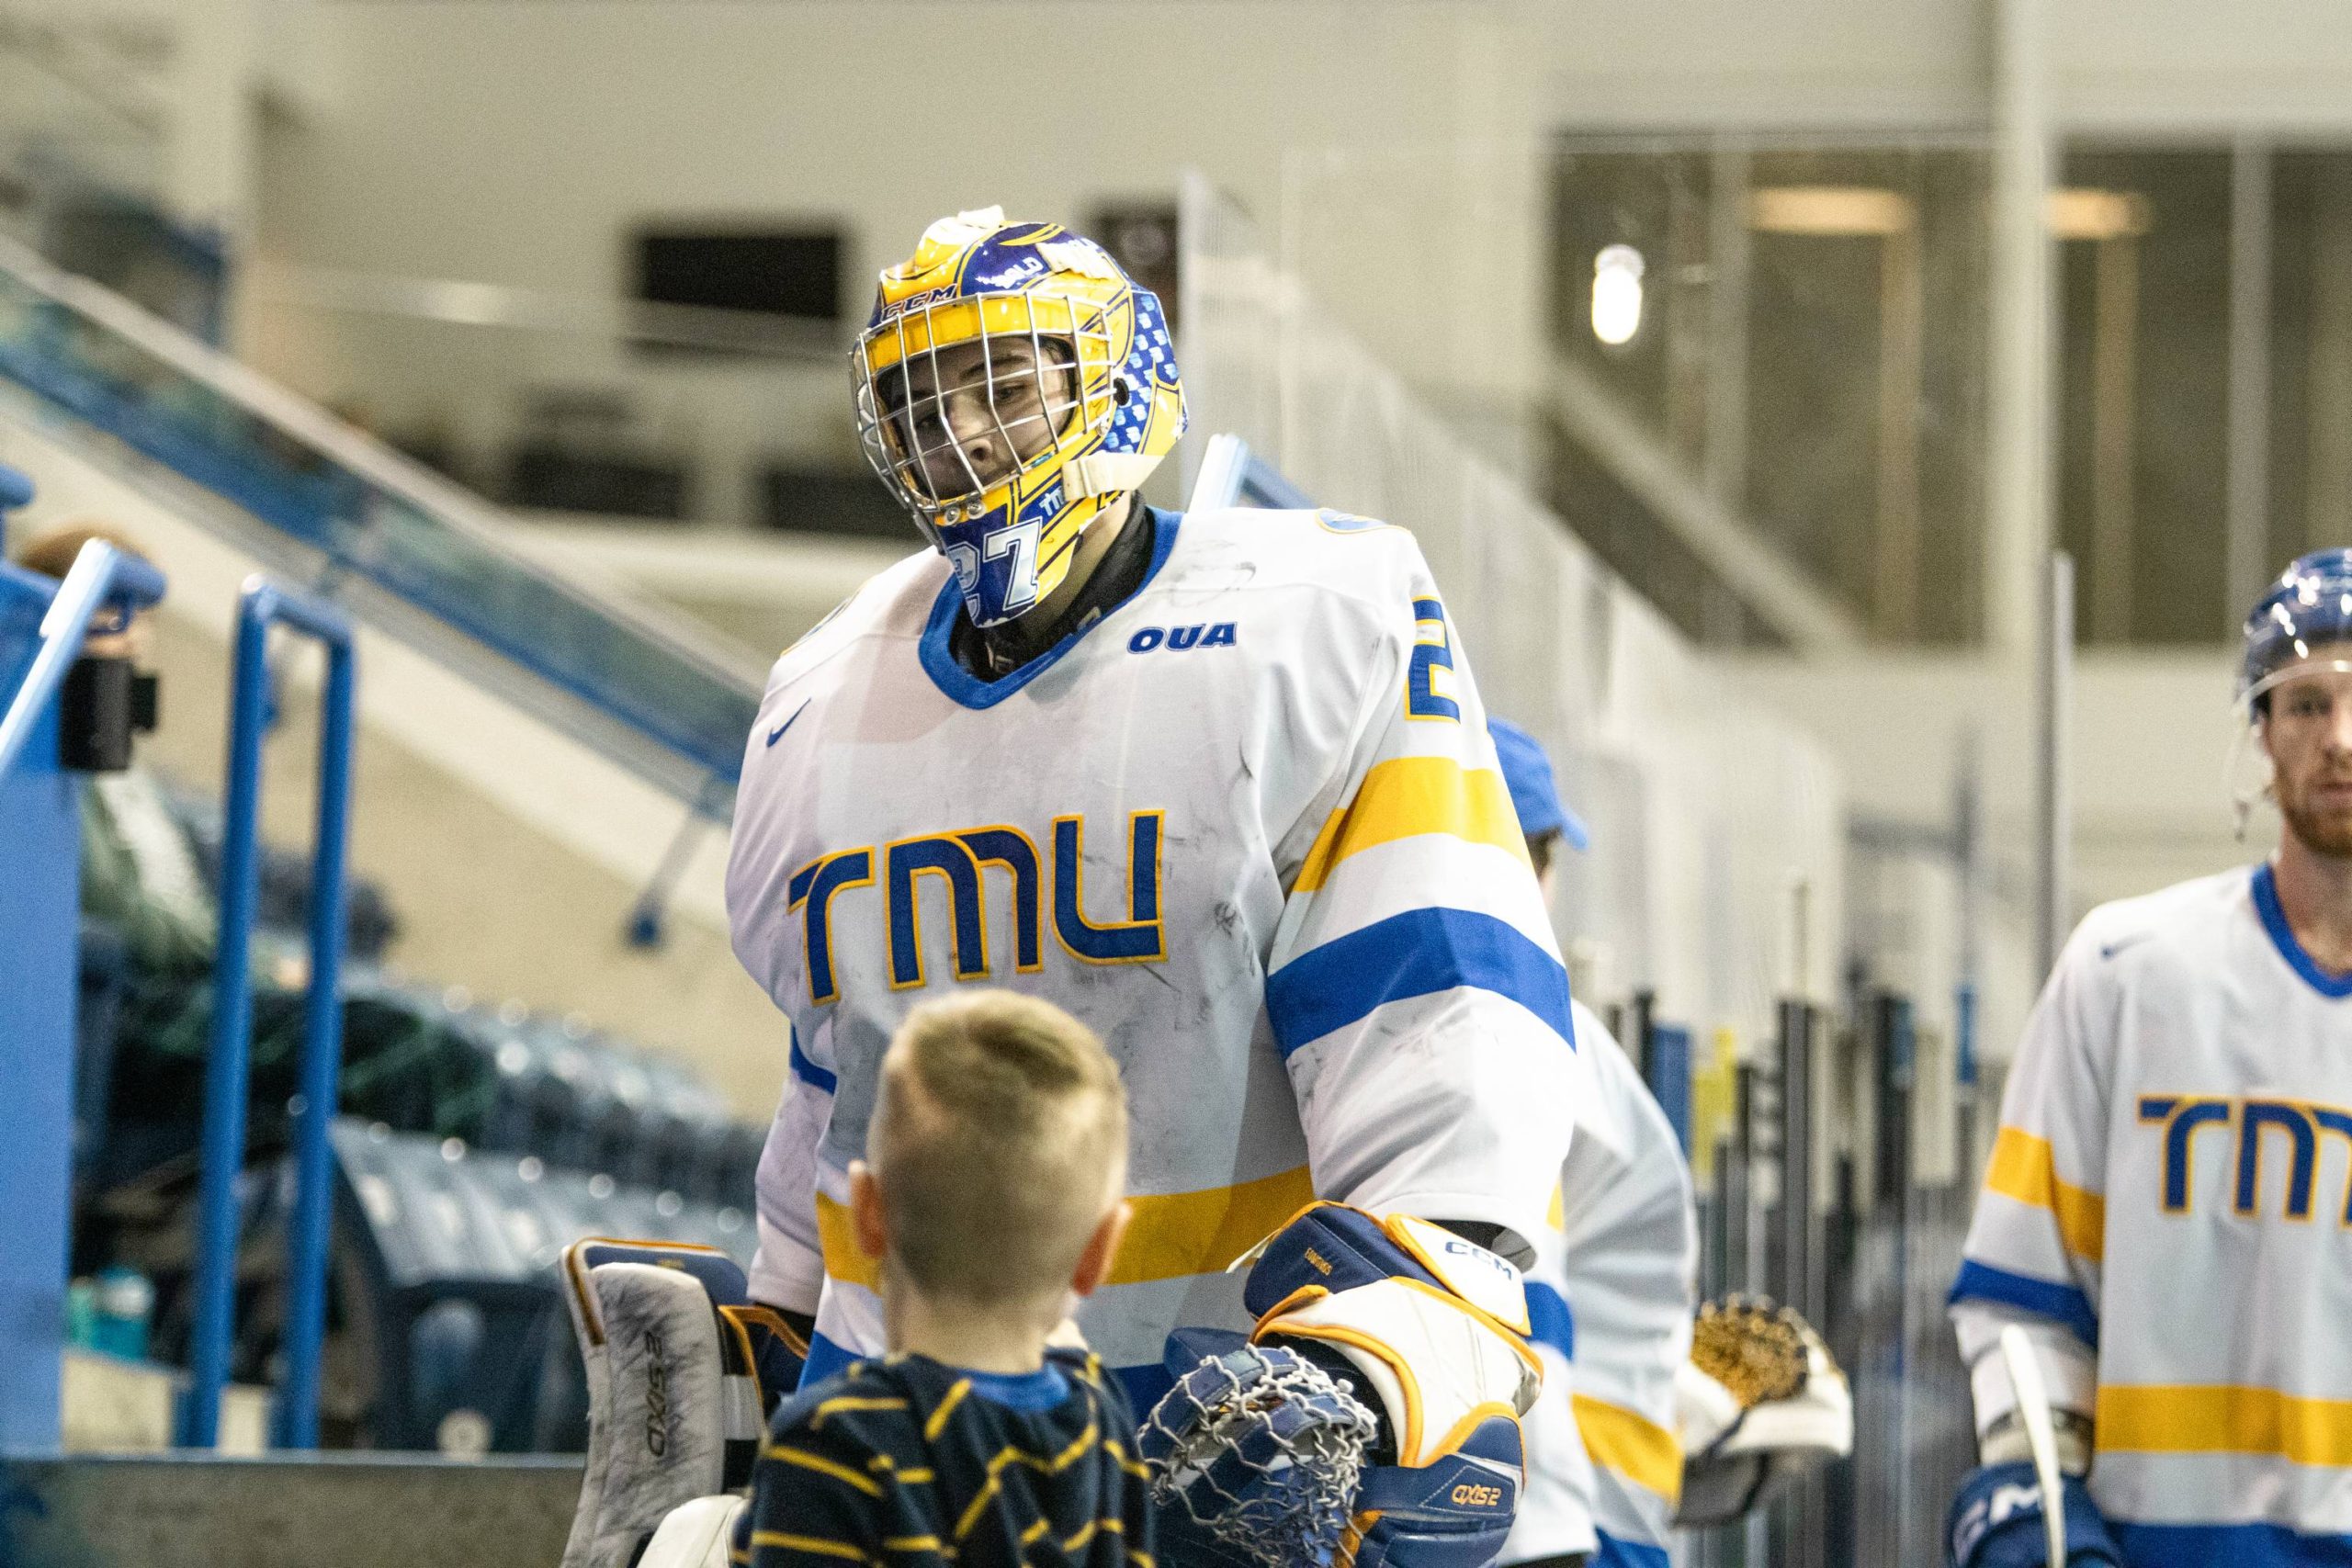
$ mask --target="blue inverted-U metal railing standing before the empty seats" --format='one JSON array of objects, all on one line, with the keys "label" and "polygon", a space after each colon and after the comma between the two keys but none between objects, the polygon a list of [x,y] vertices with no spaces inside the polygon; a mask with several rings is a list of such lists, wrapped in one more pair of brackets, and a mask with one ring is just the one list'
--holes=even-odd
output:
[{"label": "blue inverted-U metal railing standing before the empty seats", "polygon": [[221,846],[221,940],[212,969],[212,1053],[205,1063],[205,1140],[198,1190],[195,1345],[181,1441],[209,1448],[221,1434],[221,1389],[238,1286],[238,1175],[245,1166],[245,1098],[252,1070],[252,926],[261,882],[261,733],[273,625],[327,646],[318,745],[318,839],[310,856],[310,987],[303,997],[301,1112],[294,1121],[294,1211],[287,1220],[285,1380],[273,1441],[318,1446],[318,1366],[327,1333],[329,1182],[327,1126],[343,1060],[343,851],[350,830],[353,646],[339,609],[263,578],[238,607],[235,679],[228,698],[228,802]]}]

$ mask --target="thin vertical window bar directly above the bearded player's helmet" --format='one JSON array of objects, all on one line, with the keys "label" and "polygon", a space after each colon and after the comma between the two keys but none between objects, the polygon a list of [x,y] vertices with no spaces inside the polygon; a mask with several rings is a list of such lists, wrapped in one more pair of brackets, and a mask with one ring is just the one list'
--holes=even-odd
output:
[{"label": "thin vertical window bar directly above the bearded player's helmet", "polygon": [[2270,146],[2249,139],[2230,153],[2227,473],[2225,609],[2239,614],[2270,576]]}]

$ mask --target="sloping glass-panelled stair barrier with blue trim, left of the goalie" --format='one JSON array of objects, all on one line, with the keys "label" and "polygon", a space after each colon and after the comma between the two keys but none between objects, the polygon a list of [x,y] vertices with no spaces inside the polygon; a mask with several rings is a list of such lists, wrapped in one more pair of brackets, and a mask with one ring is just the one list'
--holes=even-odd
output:
[{"label": "sloping glass-panelled stair barrier with blue trim, left of the goalie", "polygon": [[517,550],[496,508],[0,237],[0,416],[727,820],[760,679],[694,621]]}]

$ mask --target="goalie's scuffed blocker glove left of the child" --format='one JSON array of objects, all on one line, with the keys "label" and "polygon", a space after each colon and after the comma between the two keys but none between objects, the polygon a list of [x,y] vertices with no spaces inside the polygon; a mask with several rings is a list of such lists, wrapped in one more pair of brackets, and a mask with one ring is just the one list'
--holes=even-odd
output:
[{"label": "goalie's scuffed blocker glove left of the child", "polygon": [[663,1516],[748,1486],[807,1342],[708,1246],[586,1239],[564,1300],[588,1371],[588,1467],[562,1568],[626,1568]]}]

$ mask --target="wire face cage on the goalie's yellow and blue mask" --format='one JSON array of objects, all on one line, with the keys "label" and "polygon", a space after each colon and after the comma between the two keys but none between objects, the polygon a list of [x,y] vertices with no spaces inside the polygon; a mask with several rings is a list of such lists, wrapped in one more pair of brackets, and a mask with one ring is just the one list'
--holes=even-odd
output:
[{"label": "wire face cage on the goalie's yellow and blue mask", "polygon": [[[1014,308],[1021,324],[990,329]],[[960,310],[981,331],[941,343],[941,317]],[[875,369],[873,348],[884,339],[896,355]],[[978,383],[943,386],[941,355],[969,343],[981,348]],[[1025,343],[1028,362],[1007,364],[1004,343]],[[988,491],[1108,430],[1120,369],[1110,355],[1108,308],[1061,294],[974,294],[903,310],[849,355],[858,447],[936,545],[941,524],[981,515]],[[1040,428],[1044,444],[1021,456]]]}]

